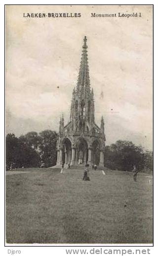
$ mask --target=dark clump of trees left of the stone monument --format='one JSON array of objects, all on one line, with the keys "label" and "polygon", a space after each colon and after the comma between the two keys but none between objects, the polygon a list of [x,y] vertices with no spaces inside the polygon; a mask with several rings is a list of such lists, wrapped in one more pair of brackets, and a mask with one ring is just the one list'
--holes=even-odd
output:
[{"label": "dark clump of trees left of the stone monument", "polygon": [[25,167],[50,167],[56,164],[56,131],[36,131],[16,137],[6,135],[6,169]]}]

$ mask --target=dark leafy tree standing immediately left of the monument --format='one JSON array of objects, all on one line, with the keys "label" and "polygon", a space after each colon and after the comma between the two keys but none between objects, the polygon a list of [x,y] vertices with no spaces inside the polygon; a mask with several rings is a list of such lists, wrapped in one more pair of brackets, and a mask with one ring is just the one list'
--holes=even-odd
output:
[{"label": "dark leafy tree standing immediately left of the monument", "polygon": [[40,132],[40,158],[45,167],[56,164],[57,152],[56,142],[58,135],[56,131],[44,130]]}]

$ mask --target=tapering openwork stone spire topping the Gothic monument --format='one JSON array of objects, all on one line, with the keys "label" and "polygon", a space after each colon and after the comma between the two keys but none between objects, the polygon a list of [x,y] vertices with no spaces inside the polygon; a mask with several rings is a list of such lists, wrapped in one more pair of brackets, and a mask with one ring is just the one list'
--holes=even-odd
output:
[{"label": "tapering openwork stone spire topping the Gothic monument", "polygon": [[77,83],[77,91],[81,94],[90,93],[90,79],[89,79],[89,68],[88,68],[88,58],[87,58],[87,45],[86,36],[83,39],[84,44],[82,46],[82,57],[80,61],[79,67],[79,76],[78,76],[78,83]]}]

